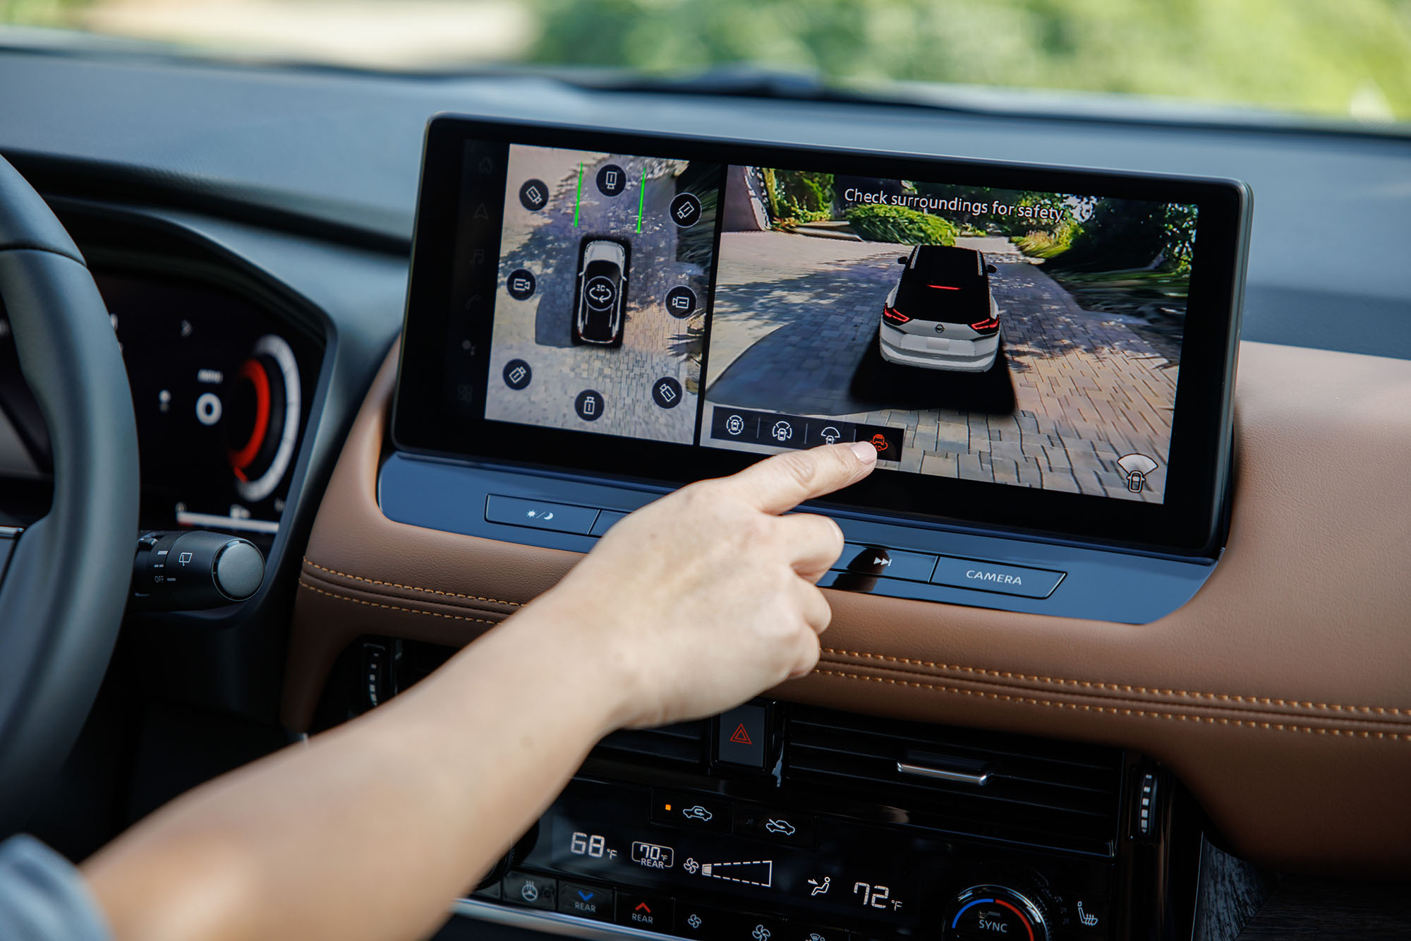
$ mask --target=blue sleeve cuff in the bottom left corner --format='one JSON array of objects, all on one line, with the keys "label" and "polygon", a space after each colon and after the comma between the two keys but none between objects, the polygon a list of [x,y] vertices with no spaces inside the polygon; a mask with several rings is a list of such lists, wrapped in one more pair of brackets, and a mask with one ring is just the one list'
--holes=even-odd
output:
[{"label": "blue sleeve cuff in the bottom left corner", "polygon": [[97,901],[69,860],[32,836],[0,842],[0,938],[110,941]]}]

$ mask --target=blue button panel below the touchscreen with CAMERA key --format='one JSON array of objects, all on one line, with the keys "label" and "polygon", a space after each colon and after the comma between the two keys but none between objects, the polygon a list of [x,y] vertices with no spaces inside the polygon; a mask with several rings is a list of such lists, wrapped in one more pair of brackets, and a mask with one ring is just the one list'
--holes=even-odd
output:
[{"label": "blue button panel below the touchscreen with CAMERA key", "polygon": [[[587,552],[667,487],[394,452],[378,503],[396,523]],[[835,507],[848,543],[824,588],[1144,625],[1188,602],[1212,560],[1173,558]]]}]

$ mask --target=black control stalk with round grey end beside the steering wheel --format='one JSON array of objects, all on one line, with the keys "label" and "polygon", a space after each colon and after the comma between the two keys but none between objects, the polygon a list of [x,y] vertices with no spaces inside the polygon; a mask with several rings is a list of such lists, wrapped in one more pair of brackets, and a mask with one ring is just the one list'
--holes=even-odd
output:
[{"label": "black control stalk with round grey end beside the steering wheel", "polygon": [[264,582],[254,543],[223,533],[143,533],[133,558],[133,605],[198,610],[244,600]]}]

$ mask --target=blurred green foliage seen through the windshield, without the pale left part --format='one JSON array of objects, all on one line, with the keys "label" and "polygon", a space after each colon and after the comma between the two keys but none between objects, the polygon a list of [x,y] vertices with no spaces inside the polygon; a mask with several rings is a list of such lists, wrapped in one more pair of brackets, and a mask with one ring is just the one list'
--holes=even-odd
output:
[{"label": "blurred green foliage seen through the windshield, without the pale left part", "polygon": [[[1136,92],[1411,119],[1411,0],[532,0],[536,62]],[[1043,154],[1036,153],[1036,160]]]}]

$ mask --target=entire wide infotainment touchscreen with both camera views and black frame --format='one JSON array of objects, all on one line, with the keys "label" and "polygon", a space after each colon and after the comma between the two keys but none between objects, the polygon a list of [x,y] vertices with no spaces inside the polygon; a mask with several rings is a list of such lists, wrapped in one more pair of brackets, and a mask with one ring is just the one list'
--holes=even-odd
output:
[{"label": "entire wide infotainment touchscreen with both camera views and black frame", "polygon": [[401,446],[1208,551],[1243,187],[437,119]]}]

